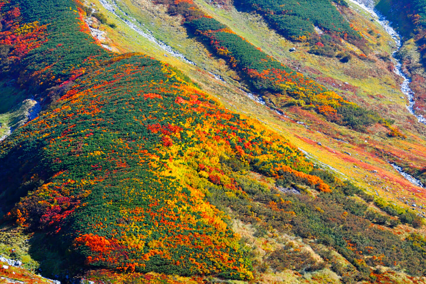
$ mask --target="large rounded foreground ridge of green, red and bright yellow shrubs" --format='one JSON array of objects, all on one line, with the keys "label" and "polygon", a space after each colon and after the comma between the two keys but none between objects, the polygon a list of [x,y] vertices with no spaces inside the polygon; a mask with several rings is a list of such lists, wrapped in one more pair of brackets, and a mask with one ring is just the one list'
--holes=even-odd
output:
[{"label": "large rounded foreground ridge of green, red and bright yellow shrubs", "polygon": [[[1,207],[8,211],[24,197],[7,214],[21,226],[62,238],[61,248],[90,267],[250,278],[238,237],[203,200],[205,183],[240,191],[217,166],[219,158],[329,191],[302,172],[312,165],[293,146],[217,107],[166,65],[131,54],[100,61],[109,55],[72,28],[80,20],[69,17],[78,14],[72,2],[59,10],[46,3],[41,15],[30,4],[20,4],[28,13],[23,19],[63,12],[70,30],[63,37],[50,23],[49,41],[20,64],[41,70],[37,80],[56,74],[55,81],[73,87],[60,107],[3,143]],[[62,50],[64,39],[81,47],[51,53],[52,46]],[[199,172],[191,177],[194,167]]]}]

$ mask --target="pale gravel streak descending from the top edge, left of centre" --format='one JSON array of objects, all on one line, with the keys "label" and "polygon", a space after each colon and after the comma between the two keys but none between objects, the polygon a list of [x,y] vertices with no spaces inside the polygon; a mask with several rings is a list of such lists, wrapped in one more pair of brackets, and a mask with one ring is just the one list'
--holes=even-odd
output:
[{"label": "pale gravel streak descending from the top edge, left of centre", "polygon": [[[147,40],[157,44],[161,49],[164,51],[169,52],[171,55],[173,55],[176,58],[180,58],[186,63],[197,65],[193,61],[188,60],[183,54],[173,50],[173,48],[166,43],[157,40],[153,35],[149,35],[145,32],[143,32],[141,29],[138,28],[138,26],[135,23],[138,23],[138,21],[135,18],[130,17],[127,13],[125,13],[123,10],[121,10],[120,7],[117,6],[115,3],[115,0],[111,0],[109,2],[108,0],[99,0],[102,6],[104,6],[105,9],[107,9],[111,14],[113,14],[115,17],[118,17],[120,20],[122,20],[130,29],[134,30],[138,33],[138,35],[141,35],[142,37],[146,38]],[[116,13],[116,10],[120,11],[121,14],[126,15],[130,20],[124,18],[123,16],[120,16]],[[148,32],[150,32],[147,29]]]}]

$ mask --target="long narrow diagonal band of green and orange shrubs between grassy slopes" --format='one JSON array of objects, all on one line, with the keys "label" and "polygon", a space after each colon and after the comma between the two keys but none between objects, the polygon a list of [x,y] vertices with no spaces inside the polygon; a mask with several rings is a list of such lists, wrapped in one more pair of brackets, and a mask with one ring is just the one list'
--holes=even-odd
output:
[{"label": "long narrow diagonal band of green and orange shrubs between grassy slopes", "polygon": [[186,24],[204,44],[213,48],[237,70],[253,91],[267,98],[270,107],[282,111],[283,107],[302,105],[314,109],[329,121],[355,130],[382,121],[371,111],[346,101],[337,93],[327,90],[303,74],[281,64],[225,25],[204,15],[192,1],[160,1],[169,5],[171,14],[181,14]]}]

